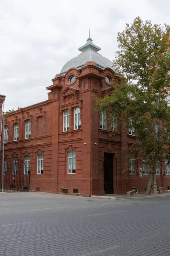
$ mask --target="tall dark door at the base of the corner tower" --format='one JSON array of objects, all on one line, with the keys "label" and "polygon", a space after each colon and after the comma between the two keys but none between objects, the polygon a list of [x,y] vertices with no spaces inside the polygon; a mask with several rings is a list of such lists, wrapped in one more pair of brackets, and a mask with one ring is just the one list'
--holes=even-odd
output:
[{"label": "tall dark door at the base of the corner tower", "polygon": [[106,194],[113,193],[113,154],[104,153],[104,190]]}]

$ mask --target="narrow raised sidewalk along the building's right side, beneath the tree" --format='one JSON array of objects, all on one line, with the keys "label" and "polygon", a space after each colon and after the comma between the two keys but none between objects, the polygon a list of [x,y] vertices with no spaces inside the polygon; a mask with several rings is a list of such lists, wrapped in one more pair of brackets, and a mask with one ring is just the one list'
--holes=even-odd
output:
[{"label": "narrow raised sidewalk along the building's right side, beneath the tree", "polygon": [[101,198],[101,199],[112,199],[112,200],[120,200],[120,199],[136,199],[136,198],[155,198],[160,196],[168,196],[169,193],[162,193],[162,194],[150,194],[150,195],[144,195],[144,194],[134,194],[133,196],[129,195],[91,195],[91,198]]}]

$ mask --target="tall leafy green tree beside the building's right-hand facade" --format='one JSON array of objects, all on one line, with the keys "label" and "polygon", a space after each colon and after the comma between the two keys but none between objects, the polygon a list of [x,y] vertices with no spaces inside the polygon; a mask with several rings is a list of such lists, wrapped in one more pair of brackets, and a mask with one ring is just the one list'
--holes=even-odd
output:
[{"label": "tall leafy green tree beside the building's right-hand facade", "polygon": [[120,84],[113,82],[113,94],[97,99],[97,106],[135,128],[138,140],[131,150],[145,161],[146,194],[150,194],[161,155],[169,150],[170,26],[144,23],[136,17],[117,39],[119,50],[113,63],[123,76]]}]

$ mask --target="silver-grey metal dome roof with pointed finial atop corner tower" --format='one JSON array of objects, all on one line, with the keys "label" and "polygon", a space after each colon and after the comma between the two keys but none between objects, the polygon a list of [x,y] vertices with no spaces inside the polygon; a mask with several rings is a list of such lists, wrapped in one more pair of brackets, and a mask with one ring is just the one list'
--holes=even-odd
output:
[{"label": "silver-grey metal dome roof with pointed finial atop corner tower", "polygon": [[62,67],[62,70],[60,72],[61,75],[64,75],[72,67],[81,68],[85,66],[85,63],[87,61],[95,61],[97,67],[102,69],[105,67],[110,67],[112,70],[116,70],[116,67],[113,67],[112,61],[98,53],[101,48],[96,46],[92,41],[93,40],[91,39],[89,32],[87,43],[82,47],[79,47],[79,51],[81,51],[82,53],[80,53],[77,57],[72,58]]}]

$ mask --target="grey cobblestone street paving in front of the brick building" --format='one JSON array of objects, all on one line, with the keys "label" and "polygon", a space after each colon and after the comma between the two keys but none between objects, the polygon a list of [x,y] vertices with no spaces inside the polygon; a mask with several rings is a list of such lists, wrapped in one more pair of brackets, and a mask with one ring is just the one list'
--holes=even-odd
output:
[{"label": "grey cobblestone street paving in front of the brick building", "polygon": [[170,197],[0,193],[0,256],[170,256]]}]

